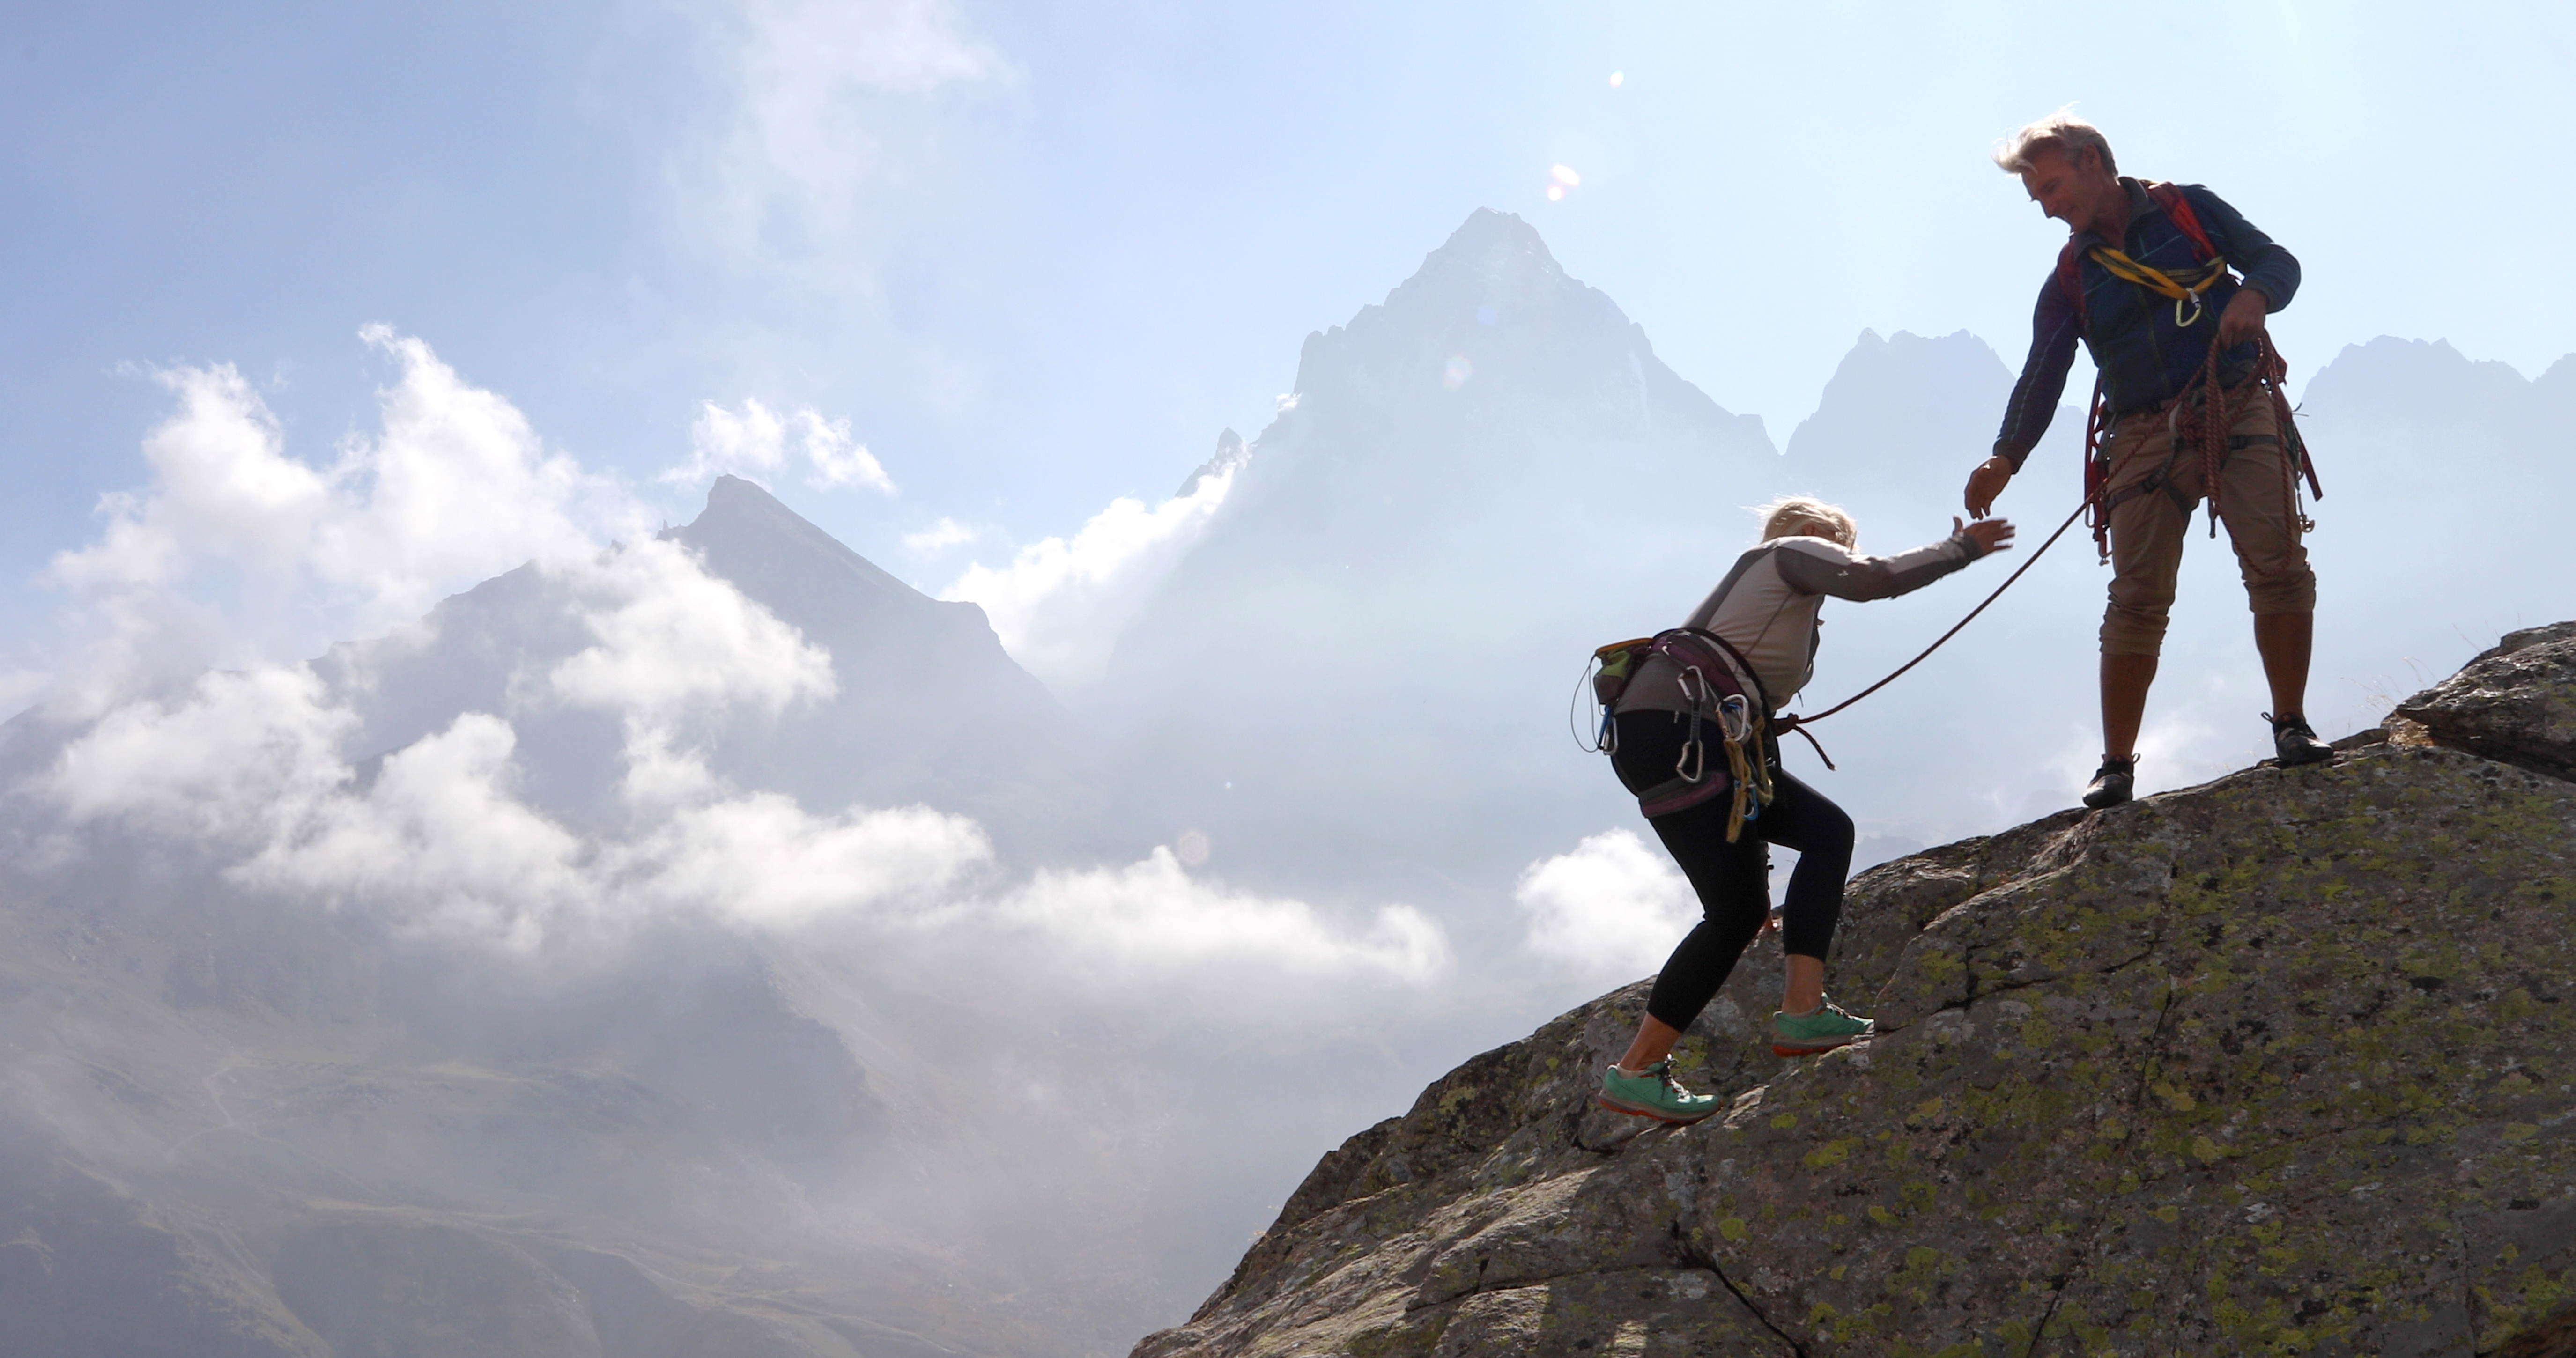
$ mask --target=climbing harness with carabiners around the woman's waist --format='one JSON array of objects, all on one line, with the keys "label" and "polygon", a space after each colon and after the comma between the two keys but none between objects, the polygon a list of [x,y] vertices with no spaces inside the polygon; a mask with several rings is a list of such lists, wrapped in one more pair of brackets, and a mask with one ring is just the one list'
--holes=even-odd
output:
[{"label": "climbing harness with carabiners around the woman's waist", "polygon": [[[1765,745],[1770,737],[1770,703],[1762,698],[1762,680],[1716,631],[1674,626],[1654,636],[1613,642],[1592,652],[1592,696],[1602,706],[1597,750],[1618,752],[1618,701],[1628,683],[1649,662],[1667,662],[1677,670],[1682,698],[1690,703],[1690,734],[1672,763],[1672,778],[1651,786],[1631,786],[1636,804],[1649,817],[1698,807],[1718,794],[1734,794],[1726,809],[1726,843],[1736,843],[1744,822],[1759,819],[1772,799],[1770,763]],[[1680,716],[1680,714],[1677,714]],[[1710,768],[1708,737],[1716,734],[1726,768]]]}]

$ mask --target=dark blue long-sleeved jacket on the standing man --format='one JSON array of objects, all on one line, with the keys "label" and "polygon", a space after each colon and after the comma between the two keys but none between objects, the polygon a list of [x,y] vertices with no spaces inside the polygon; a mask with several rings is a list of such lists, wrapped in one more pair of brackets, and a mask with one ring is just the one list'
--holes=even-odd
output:
[{"label": "dark blue long-sleeved jacket on the standing man", "polygon": [[[2143,183],[2120,178],[2120,188],[2128,191],[2128,232],[2120,253],[2161,271],[2182,271],[2200,263],[2192,237],[2182,234],[2182,227],[2148,198]],[[2228,299],[2236,296],[2239,286],[2259,289],[2267,312],[2290,304],[2290,296],[2298,291],[2298,260],[2287,250],[2254,229],[2226,198],[2197,183],[2184,183],[2182,198],[2192,204],[2192,214],[2200,216],[2200,229],[2218,247],[2218,258],[2228,260],[2228,271],[2241,276],[2244,283],[2236,278],[2213,283],[2202,294],[2208,312],[2190,327],[2179,327],[2174,325],[2174,301],[2169,296],[2115,278],[2092,258],[2092,247],[2102,245],[2102,237],[2094,232],[2076,234],[2076,278],[2084,283],[2084,309],[2076,309],[2074,299],[2058,283],[2056,271],[2050,271],[2048,281],[2040,283],[2040,304],[2030,317],[2030,358],[2022,361],[2022,381],[2012,384],[2012,402],[2004,405],[2004,430],[1994,435],[1996,456],[2007,456],[2012,466],[2022,466],[2030,448],[2048,433],[2048,420],[2058,412],[2058,397],[2066,392],[2066,368],[2076,361],[2076,338],[2084,340],[2094,368],[2102,371],[2102,389],[2110,397],[2112,415],[2128,415],[2130,410],[2164,405],[2190,387],[2200,374],[2202,358],[2210,356],[2210,343],[2218,338],[2218,317],[2228,309]],[[2192,314],[2187,304],[2182,314]],[[2226,379],[2233,379],[2233,374],[2254,363],[2254,345],[2236,345],[2218,358],[2228,374]]]}]

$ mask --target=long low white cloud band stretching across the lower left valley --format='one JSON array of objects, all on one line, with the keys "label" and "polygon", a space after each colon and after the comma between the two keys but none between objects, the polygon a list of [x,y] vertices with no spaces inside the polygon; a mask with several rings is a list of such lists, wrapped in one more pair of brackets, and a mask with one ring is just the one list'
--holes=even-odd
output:
[{"label": "long low white cloud band stretching across the lower left valley", "polygon": [[[757,603],[742,606],[783,629]],[[1043,990],[1113,1002],[1139,987],[1229,1000],[1285,1000],[1337,979],[1419,987],[1450,964],[1443,930],[1401,904],[1347,925],[1306,902],[1190,876],[1167,848],[1005,884],[969,817],[927,807],[814,814],[781,794],[732,789],[698,752],[670,745],[672,706],[801,701],[817,680],[783,683],[760,665],[726,680],[719,665],[703,685],[672,685],[657,673],[670,660],[665,634],[626,618],[626,608],[592,616],[603,644],[551,675],[556,696],[616,709],[629,765],[649,770],[649,796],[631,796],[641,814],[618,835],[580,835],[528,807],[515,794],[518,732],[484,711],[363,778],[340,752],[355,719],[307,667],[214,673],[178,698],[126,703],[64,750],[46,791],[72,822],[126,817],[201,843],[242,886],[513,951],[672,915],[760,933],[858,928],[909,948],[963,948],[987,966],[999,941],[1018,941],[1015,964],[1048,974]],[[791,657],[775,670],[801,665]]]}]

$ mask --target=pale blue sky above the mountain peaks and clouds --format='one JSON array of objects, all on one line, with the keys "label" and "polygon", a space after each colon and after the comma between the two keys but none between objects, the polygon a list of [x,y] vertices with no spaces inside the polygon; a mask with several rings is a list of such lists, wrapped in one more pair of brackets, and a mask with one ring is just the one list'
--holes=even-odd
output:
[{"label": "pale blue sky above the mountain peaks and clouds", "polygon": [[[845,420],[899,490],[778,490],[933,588],[1170,495],[1476,206],[1785,441],[1862,327],[2020,358],[2061,229],[1986,152],[2063,103],[2306,260],[2293,363],[2388,332],[2532,376],[2576,350],[2576,10],[2432,13],[18,5],[0,660],[41,665],[46,562],[147,479],[155,366],[237,363],[319,464],[394,381],[368,322],[675,518],[703,402]],[[987,536],[907,554],[940,518]]]}]

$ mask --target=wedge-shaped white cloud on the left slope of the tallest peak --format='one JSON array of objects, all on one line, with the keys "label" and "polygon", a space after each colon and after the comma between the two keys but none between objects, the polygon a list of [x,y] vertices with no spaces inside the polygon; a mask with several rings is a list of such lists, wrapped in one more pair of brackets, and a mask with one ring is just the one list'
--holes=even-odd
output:
[{"label": "wedge-shaped white cloud on the left slope of the tallest peak", "polygon": [[1151,510],[1118,497],[1066,539],[1023,546],[1007,567],[966,567],[940,598],[984,606],[1012,660],[1046,683],[1082,685],[1108,667],[1118,631],[1226,502],[1242,461],[1195,477]]}]

